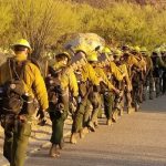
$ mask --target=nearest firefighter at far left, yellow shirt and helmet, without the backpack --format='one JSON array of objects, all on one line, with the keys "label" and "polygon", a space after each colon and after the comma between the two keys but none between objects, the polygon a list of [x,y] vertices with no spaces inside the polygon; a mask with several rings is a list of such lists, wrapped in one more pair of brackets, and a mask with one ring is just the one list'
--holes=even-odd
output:
[{"label": "nearest firefighter at far left, yellow shirt and helmet, without the backpack", "polygon": [[[28,55],[32,51],[30,43],[25,39],[20,39],[12,45],[12,49],[14,51],[14,56],[10,61],[13,62],[12,65],[7,61],[0,66],[0,85],[14,79],[22,80],[23,86],[19,87],[19,91],[23,89],[27,96],[37,97],[41,106],[41,118],[43,118],[49,107],[48,93],[39,68],[28,61]],[[17,89],[17,84],[14,87]],[[15,101],[12,106],[17,103]],[[12,111],[4,113],[2,118],[4,127],[3,155],[9,160],[10,166],[23,166],[35,110],[32,107],[28,110],[27,106],[22,107],[18,114]]]}]

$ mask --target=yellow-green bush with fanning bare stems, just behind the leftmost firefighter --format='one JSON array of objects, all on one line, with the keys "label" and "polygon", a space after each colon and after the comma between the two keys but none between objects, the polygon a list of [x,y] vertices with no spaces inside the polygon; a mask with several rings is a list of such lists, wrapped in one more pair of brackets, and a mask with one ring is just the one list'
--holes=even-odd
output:
[{"label": "yellow-green bush with fanning bare stems, just behind the leftmost firefighter", "polygon": [[45,45],[75,29],[75,15],[69,4],[59,0],[13,0],[13,27],[31,42],[35,58],[43,54]]}]

